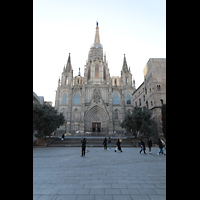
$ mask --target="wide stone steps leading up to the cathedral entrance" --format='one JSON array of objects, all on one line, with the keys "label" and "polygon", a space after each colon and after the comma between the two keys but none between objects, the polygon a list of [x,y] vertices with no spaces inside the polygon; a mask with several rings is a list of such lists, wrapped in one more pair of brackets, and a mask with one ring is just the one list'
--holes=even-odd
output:
[{"label": "wide stone steps leading up to the cathedral entrance", "polygon": [[[102,147],[103,140],[105,137],[85,137],[87,147]],[[111,147],[116,147],[116,142],[119,137],[111,137]],[[81,147],[82,137],[65,137],[64,140],[61,138],[56,138],[51,144],[48,144],[47,147]],[[108,137],[107,137],[108,139]],[[123,147],[136,147],[137,143],[133,138],[121,137],[122,139],[121,146]],[[108,146],[108,145],[107,145]]]}]

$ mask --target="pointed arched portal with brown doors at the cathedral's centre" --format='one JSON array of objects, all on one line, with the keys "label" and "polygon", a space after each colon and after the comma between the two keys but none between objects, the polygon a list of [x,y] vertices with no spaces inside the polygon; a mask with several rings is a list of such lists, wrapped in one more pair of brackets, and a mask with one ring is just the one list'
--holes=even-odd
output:
[{"label": "pointed arched portal with brown doors at the cathedral's centre", "polygon": [[109,116],[107,112],[98,105],[92,107],[85,117],[85,129],[91,132],[104,132],[108,130]]}]

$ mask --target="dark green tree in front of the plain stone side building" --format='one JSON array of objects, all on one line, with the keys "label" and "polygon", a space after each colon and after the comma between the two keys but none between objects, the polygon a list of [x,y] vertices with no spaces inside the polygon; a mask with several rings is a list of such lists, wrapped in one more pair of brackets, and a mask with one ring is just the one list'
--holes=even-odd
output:
[{"label": "dark green tree in front of the plain stone side building", "polygon": [[134,107],[132,114],[125,115],[121,126],[134,135],[140,133],[143,137],[151,137],[156,133],[156,122],[152,119],[151,110],[146,107]]}]

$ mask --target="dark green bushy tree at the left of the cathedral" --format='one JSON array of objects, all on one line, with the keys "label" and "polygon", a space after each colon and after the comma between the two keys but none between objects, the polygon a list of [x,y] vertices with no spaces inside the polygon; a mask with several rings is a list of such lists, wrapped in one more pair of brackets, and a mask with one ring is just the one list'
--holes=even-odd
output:
[{"label": "dark green bushy tree at the left of the cathedral", "polygon": [[33,103],[33,132],[37,131],[37,137],[50,135],[65,122],[62,113],[44,103]]}]

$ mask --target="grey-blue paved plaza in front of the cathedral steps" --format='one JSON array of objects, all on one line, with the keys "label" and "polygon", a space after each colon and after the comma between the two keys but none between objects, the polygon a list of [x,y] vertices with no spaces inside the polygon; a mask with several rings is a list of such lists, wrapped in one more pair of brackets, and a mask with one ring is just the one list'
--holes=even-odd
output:
[{"label": "grey-blue paved plaza in front of the cathedral steps", "polygon": [[165,200],[166,156],[140,148],[33,148],[34,200]]}]

